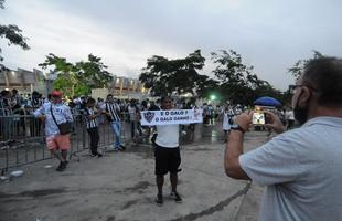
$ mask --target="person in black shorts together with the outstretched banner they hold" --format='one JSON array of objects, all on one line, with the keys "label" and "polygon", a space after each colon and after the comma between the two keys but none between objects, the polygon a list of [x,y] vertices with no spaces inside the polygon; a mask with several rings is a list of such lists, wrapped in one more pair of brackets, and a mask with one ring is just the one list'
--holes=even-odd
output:
[{"label": "person in black shorts together with the outstretched banner they hold", "polygon": [[180,124],[202,123],[202,109],[173,109],[172,101],[165,96],[161,98],[160,110],[141,112],[141,125],[157,127],[157,138],[153,141],[156,159],[156,181],[158,194],[156,202],[162,206],[162,186],[164,175],[170,172],[171,197],[175,202],[182,202],[177,191],[178,171],[181,164],[179,148]]}]

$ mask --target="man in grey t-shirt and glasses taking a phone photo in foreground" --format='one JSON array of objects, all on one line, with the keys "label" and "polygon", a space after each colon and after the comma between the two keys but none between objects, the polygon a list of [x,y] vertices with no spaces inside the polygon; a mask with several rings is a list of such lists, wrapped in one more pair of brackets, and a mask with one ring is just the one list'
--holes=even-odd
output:
[{"label": "man in grey t-shirt and glasses taking a phone photo in foreground", "polygon": [[280,119],[267,113],[266,126],[284,134],[243,154],[252,114],[237,116],[226,175],[266,186],[259,220],[342,220],[342,60],[311,60],[292,88],[301,127],[284,133]]}]

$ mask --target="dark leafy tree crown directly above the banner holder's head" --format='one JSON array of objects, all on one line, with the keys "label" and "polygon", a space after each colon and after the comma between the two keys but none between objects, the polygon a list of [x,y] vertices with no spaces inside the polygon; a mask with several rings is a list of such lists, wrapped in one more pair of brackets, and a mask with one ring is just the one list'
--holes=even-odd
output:
[{"label": "dark leafy tree crown directly above the banner holder's head", "polygon": [[154,55],[148,59],[139,80],[154,96],[170,95],[173,92],[201,96],[206,91],[205,87],[213,83],[197,72],[203,69],[204,61],[201,50],[175,60]]}]

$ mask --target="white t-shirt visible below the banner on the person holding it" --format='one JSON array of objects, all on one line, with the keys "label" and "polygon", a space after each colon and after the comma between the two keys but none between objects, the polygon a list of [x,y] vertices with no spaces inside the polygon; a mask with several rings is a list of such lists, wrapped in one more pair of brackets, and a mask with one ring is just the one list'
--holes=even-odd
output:
[{"label": "white t-shirt visible below the banner on the person holding it", "polygon": [[179,125],[157,125],[156,144],[161,147],[175,148],[179,146]]}]

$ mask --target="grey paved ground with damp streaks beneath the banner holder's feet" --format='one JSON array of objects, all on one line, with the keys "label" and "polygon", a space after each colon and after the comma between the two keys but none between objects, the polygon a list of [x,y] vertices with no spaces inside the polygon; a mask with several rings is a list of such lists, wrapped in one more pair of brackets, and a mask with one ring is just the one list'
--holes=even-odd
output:
[{"label": "grey paved ground with damp streaks beneath the banner holder's feet", "polygon": [[[131,146],[104,158],[81,152],[62,173],[44,168],[55,167],[53,159],[20,168],[24,176],[0,183],[0,221],[256,220],[261,189],[225,176],[217,128],[201,127],[195,141],[181,147],[182,203],[167,197],[165,179],[165,202],[156,206],[152,149]],[[245,147],[265,139],[265,133],[247,133]]]}]

